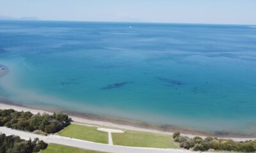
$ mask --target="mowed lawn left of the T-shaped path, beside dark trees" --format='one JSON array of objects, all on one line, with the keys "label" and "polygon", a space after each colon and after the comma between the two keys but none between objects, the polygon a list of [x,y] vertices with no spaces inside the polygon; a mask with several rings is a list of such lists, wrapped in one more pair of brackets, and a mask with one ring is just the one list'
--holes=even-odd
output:
[{"label": "mowed lawn left of the T-shaped path, beside dark trees", "polygon": [[71,124],[59,132],[61,136],[87,140],[90,142],[108,143],[108,133],[97,131],[96,127]]}]

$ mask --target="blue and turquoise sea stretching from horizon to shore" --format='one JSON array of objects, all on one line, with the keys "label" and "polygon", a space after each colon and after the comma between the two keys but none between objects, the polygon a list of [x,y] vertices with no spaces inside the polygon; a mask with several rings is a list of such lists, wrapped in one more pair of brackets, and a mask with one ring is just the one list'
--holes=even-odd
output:
[{"label": "blue and turquoise sea stretching from horizon to shore", "polygon": [[256,28],[0,21],[15,103],[256,133]]}]

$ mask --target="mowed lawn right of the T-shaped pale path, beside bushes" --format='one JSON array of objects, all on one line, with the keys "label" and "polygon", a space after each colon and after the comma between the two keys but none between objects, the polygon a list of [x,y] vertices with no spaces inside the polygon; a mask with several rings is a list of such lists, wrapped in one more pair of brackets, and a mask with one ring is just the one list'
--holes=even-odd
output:
[{"label": "mowed lawn right of the T-shaped pale path, beside bushes", "polygon": [[172,136],[141,131],[125,131],[125,133],[112,133],[114,145],[152,148],[177,148]]}]

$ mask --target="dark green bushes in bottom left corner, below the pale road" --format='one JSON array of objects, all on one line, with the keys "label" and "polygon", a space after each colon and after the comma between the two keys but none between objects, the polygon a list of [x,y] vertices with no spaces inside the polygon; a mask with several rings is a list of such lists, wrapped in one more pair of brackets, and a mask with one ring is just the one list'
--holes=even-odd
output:
[{"label": "dark green bushes in bottom left corner, below the pale road", "polygon": [[40,152],[47,148],[47,143],[42,140],[22,140],[19,136],[6,136],[0,134],[0,153],[31,153]]}]

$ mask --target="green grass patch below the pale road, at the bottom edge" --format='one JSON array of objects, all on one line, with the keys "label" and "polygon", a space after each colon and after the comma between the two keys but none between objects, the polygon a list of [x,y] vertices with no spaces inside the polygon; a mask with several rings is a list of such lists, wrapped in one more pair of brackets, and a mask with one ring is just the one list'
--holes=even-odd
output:
[{"label": "green grass patch below the pale road, at the bottom edge", "polygon": [[70,153],[70,152],[75,152],[75,153],[103,153],[103,152],[97,152],[97,151],[92,151],[92,150],[84,150],[84,149],[79,149],[75,147],[69,147],[66,145],[57,145],[54,143],[51,143],[48,145],[47,149],[41,151],[40,153]]}]

